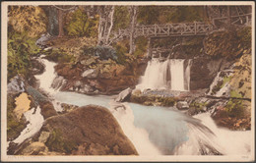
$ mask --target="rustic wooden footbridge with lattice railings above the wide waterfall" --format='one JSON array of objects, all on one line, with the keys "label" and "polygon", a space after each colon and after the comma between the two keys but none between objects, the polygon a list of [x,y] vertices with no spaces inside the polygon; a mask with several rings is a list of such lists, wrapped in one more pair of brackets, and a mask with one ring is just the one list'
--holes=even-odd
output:
[{"label": "rustic wooden footbridge with lattice railings above the wide waterfall", "polygon": [[[211,24],[202,22],[182,23],[182,24],[165,24],[165,25],[148,25],[134,28],[134,37],[165,37],[165,36],[185,36],[185,35],[205,35],[213,30]],[[112,41],[130,36],[130,29],[119,29],[113,33]]]}]

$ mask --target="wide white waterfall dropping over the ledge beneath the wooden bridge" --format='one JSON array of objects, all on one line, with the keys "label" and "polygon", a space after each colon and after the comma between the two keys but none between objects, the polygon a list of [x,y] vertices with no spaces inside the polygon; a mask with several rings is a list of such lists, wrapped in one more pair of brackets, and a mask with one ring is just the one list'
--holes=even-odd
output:
[{"label": "wide white waterfall dropping over the ledge beneath the wooden bridge", "polygon": [[145,75],[136,86],[140,89],[189,90],[191,61],[184,68],[183,59],[167,59],[161,62],[154,58],[149,61]]}]

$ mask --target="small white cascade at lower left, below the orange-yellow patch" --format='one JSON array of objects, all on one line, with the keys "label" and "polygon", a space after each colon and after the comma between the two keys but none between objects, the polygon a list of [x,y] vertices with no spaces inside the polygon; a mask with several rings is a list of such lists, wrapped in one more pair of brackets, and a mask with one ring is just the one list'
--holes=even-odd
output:
[{"label": "small white cascade at lower left, below the orange-yellow patch", "polygon": [[32,108],[31,110],[24,113],[26,120],[29,122],[26,129],[23,130],[20,136],[18,136],[13,142],[22,143],[27,138],[30,138],[34,134],[36,134],[42,127],[43,117],[40,114],[41,109],[39,106],[37,108]]}]

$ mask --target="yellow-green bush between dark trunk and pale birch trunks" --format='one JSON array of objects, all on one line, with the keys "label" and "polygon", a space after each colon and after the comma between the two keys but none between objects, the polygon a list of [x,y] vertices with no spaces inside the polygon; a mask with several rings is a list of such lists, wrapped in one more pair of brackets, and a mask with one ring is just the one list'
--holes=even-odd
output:
[{"label": "yellow-green bush between dark trunk and pale birch trunks", "polygon": [[72,13],[70,20],[66,23],[68,35],[96,37],[98,17],[89,18],[82,8]]}]

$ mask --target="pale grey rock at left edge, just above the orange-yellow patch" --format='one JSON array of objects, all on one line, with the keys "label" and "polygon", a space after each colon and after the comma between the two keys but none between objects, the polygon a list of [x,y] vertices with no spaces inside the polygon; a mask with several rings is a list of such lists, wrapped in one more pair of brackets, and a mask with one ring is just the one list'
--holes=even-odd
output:
[{"label": "pale grey rock at left edge, just above the orange-yellow patch", "polygon": [[20,93],[25,91],[25,81],[24,79],[17,75],[7,84],[8,93]]}]

